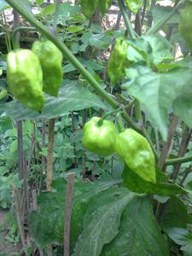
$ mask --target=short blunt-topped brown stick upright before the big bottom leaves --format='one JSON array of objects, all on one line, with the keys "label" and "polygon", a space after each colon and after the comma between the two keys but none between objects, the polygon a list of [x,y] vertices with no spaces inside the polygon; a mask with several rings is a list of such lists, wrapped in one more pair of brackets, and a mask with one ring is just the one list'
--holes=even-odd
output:
[{"label": "short blunt-topped brown stick upright before the big bottom leaves", "polygon": [[74,173],[71,172],[67,177],[67,191],[65,201],[65,222],[64,222],[64,254],[63,256],[69,256],[70,253],[70,227],[72,217],[72,202],[73,202],[73,189],[74,189]]}]

